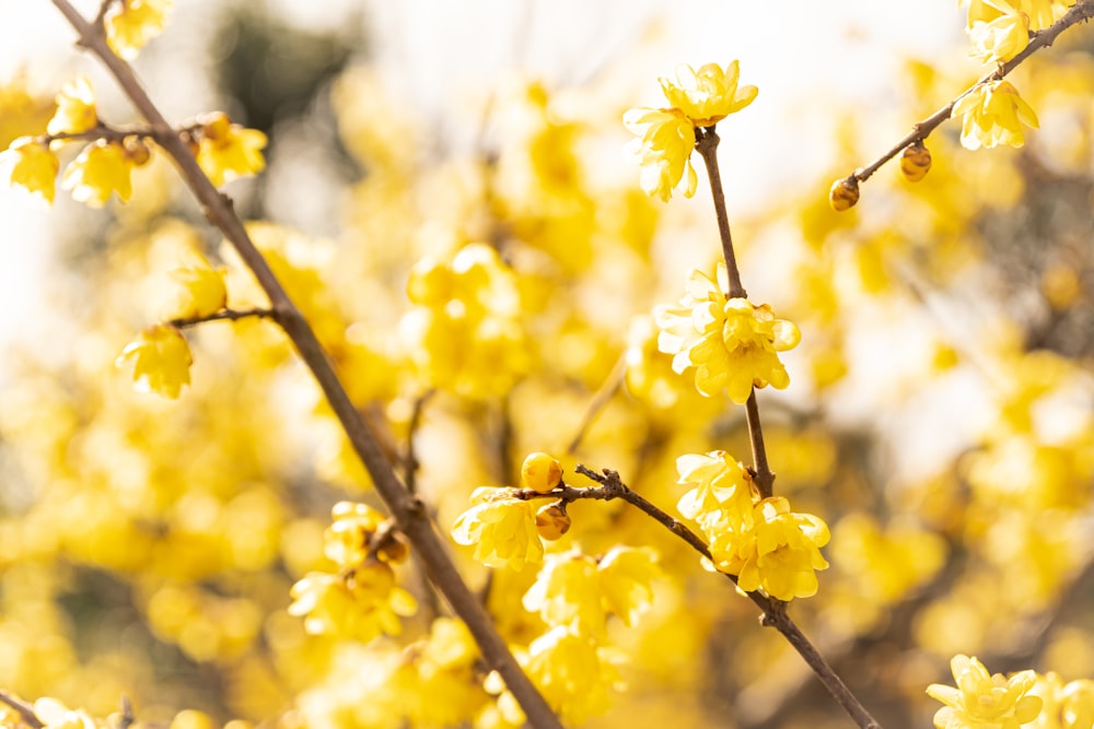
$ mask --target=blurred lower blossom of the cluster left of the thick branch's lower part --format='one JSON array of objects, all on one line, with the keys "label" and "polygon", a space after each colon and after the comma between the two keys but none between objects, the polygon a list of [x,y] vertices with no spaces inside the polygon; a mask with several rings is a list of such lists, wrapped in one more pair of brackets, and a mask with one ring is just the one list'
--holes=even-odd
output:
[{"label": "blurred lower blossom of the cluster left of the thick branch's lower part", "polygon": [[292,586],[290,615],[304,615],[313,635],[372,640],[381,633],[398,635],[399,616],[412,615],[414,597],[395,586],[392,567],[375,560],[344,575],[311,573]]}]

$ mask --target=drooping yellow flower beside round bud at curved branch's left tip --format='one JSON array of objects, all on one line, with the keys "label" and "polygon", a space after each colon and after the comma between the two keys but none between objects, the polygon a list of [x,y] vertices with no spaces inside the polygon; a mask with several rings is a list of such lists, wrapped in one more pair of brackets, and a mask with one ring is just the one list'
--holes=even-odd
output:
[{"label": "drooping yellow flower beside round bud at curved branch's left tip", "polygon": [[457,544],[475,545],[475,558],[488,567],[539,564],[544,545],[536,530],[536,505],[512,498],[509,489],[480,486],[472,494],[476,505],[456,517],[452,538]]}]

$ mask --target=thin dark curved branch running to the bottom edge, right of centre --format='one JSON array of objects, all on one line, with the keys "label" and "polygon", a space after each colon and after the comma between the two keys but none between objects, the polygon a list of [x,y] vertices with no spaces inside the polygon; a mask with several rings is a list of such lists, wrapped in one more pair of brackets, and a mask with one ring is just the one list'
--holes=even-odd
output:
[{"label": "thin dark curved branch running to the bottom edge, right of centre", "polygon": [[[619,479],[619,474],[610,469],[604,469],[603,473],[596,473],[595,471],[584,467],[578,466],[578,473],[592,479],[596,483],[601,484],[600,489],[574,489],[572,486],[562,484],[559,489],[551,491],[548,494],[537,494],[539,496],[562,498],[562,501],[573,501],[577,498],[597,498],[609,501],[613,498],[621,498],[622,501],[640,508],[647,515],[651,516],[654,520],[663,525],[668,531],[673,532],[685,542],[691,545],[699,554],[711,560],[710,548],[707,545],[702,538],[691,531],[687,525],[682,522],[659,508],[655,504],[649,502],[640,494],[631,491],[627,485]],[[517,497],[532,497],[531,494],[526,493],[527,490],[521,490],[516,492],[520,494]],[[725,574],[725,573],[722,573]],[[733,581],[734,585],[737,584],[736,575],[725,574],[725,576]],[[862,705],[862,703],[856,697],[851,690],[847,687],[843,680],[839,678],[831,666],[824,659],[824,656],[814,647],[810,639],[805,637],[801,628],[791,620],[790,615],[787,614],[787,603],[781,600],[776,600],[767,597],[760,592],[745,592],[748,599],[752,600],[756,607],[763,611],[763,616],[760,622],[768,626],[773,627],[779,631],[784,638],[793,646],[794,650],[805,660],[805,662],[813,669],[816,673],[817,679],[824,684],[825,689],[833,695],[833,698],[847,712],[856,724],[862,729],[881,729],[881,725],[874,717],[870,715],[870,712]]]}]

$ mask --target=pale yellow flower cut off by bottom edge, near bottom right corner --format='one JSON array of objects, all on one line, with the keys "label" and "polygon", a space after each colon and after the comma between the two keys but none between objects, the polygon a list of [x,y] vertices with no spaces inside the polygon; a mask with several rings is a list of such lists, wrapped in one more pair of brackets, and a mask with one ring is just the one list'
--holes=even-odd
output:
[{"label": "pale yellow flower cut off by bottom edge, near bottom right corner", "polygon": [[1043,701],[1028,694],[1037,681],[1033,671],[1010,679],[988,674],[976,658],[957,655],[950,661],[957,687],[932,683],[927,695],[945,706],[934,715],[938,729],[1019,729],[1037,718]]}]

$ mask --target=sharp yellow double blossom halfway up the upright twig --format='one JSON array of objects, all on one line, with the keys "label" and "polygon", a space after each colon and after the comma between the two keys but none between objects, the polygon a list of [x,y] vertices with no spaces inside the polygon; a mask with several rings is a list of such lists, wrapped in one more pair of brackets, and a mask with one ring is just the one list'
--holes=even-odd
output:
[{"label": "sharp yellow double blossom halfway up the upright twig", "polygon": [[680,305],[654,309],[661,328],[657,348],[674,355],[676,373],[696,367],[696,389],[708,398],[724,389],[731,400],[744,403],[753,386],[784,389],[790,376],[778,352],[798,345],[798,327],[777,319],[766,304],[726,299],[723,263],[718,264],[715,278],[718,283],[693,269]]}]

